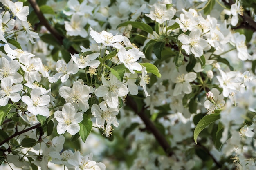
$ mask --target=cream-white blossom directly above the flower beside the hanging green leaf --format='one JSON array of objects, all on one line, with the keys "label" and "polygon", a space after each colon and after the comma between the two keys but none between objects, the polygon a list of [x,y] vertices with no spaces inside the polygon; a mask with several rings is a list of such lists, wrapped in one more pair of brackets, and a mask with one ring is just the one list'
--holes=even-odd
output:
[{"label": "cream-white blossom directly above the flower beside the hanging green leaf", "polygon": [[81,82],[74,82],[73,87],[62,86],[59,89],[61,97],[66,99],[67,103],[71,103],[76,110],[80,108],[83,112],[86,112],[89,108],[88,99],[90,93],[90,87],[82,85]]}]

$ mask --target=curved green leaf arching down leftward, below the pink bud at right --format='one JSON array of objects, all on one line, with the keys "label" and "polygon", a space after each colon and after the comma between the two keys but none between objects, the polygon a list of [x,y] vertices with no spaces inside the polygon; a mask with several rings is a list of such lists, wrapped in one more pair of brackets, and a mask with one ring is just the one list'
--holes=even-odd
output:
[{"label": "curved green leaf arching down leftward, below the pink bud at right", "polygon": [[204,116],[195,127],[194,131],[194,140],[197,144],[196,139],[198,138],[199,133],[206,128],[209,124],[213,123],[214,121],[220,119],[220,113],[212,113],[210,115]]}]

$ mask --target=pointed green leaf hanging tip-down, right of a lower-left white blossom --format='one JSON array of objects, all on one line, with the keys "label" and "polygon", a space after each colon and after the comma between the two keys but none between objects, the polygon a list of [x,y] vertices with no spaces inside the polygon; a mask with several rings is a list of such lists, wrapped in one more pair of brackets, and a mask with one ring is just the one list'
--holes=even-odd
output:
[{"label": "pointed green leaf hanging tip-down, right of a lower-left white blossom", "polygon": [[79,135],[81,136],[81,139],[83,142],[85,142],[86,138],[90,134],[92,130],[92,120],[88,115],[83,115],[83,121],[79,123],[80,130]]}]

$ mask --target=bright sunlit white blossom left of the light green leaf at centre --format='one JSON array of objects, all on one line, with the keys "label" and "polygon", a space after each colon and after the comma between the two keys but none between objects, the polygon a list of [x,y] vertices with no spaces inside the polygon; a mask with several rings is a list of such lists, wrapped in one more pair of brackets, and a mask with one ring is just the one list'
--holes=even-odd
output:
[{"label": "bright sunlit white blossom left of the light green leaf at centre", "polygon": [[137,60],[139,60],[139,57],[140,57],[138,53],[139,53],[139,49],[129,49],[128,51],[126,51],[124,47],[119,49],[117,53],[119,61],[124,63],[124,66],[128,68],[128,70],[132,74],[135,73],[135,71],[133,70],[141,71],[142,69],[142,66],[136,62]]}]

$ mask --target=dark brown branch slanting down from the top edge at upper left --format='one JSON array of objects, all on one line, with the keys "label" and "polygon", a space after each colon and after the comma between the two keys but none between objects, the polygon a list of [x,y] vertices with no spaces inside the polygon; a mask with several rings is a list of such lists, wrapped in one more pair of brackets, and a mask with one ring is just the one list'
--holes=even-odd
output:
[{"label": "dark brown branch slanting down from the top edge at upper left", "polygon": [[[64,37],[62,35],[60,35],[58,33],[58,31],[56,31],[56,29],[54,29],[53,26],[51,26],[49,24],[49,22],[46,20],[46,18],[44,17],[43,13],[40,10],[40,7],[38,6],[38,4],[36,3],[36,0],[28,0],[29,3],[31,4],[32,8],[34,9],[36,15],[38,16],[38,19],[40,20],[40,24],[44,25],[47,30],[54,36],[54,38],[56,38],[56,40],[63,45],[63,39]],[[69,49],[67,49],[72,55],[74,53],[77,53],[77,51],[71,46]]]}]

